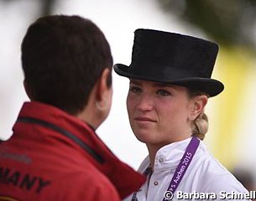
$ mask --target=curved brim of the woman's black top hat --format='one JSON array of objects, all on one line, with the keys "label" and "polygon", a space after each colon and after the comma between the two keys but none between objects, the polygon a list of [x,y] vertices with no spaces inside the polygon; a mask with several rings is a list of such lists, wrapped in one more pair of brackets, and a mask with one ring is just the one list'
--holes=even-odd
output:
[{"label": "curved brim of the woman's black top hat", "polygon": [[193,90],[200,90],[210,95],[210,97],[218,95],[224,90],[222,82],[210,78],[189,77],[181,79],[159,79],[153,76],[133,75],[128,72],[128,66],[124,64],[114,64],[113,68],[118,75],[127,78],[180,85]]}]

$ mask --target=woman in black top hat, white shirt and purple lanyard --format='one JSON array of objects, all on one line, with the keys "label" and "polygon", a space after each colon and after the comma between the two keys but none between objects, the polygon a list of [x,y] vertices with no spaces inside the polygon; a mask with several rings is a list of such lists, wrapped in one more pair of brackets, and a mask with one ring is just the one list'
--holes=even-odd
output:
[{"label": "woman in black top hat, white shirt and purple lanyard", "polygon": [[114,65],[118,75],[130,79],[130,125],[149,150],[138,169],[148,181],[126,200],[248,198],[202,142],[208,98],[224,89],[211,78],[217,52],[217,44],[204,39],[137,29],[132,63]]}]

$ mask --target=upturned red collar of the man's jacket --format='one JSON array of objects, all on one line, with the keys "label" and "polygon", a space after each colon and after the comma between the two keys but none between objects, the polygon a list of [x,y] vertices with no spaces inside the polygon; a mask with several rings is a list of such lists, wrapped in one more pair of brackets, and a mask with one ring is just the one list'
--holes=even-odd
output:
[{"label": "upturned red collar of the man's jacket", "polygon": [[[94,152],[102,157],[102,162],[97,161],[91,156],[91,163],[109,178],[112,184],[118,189],[121,198],[137,190],[145,181],[144,176],[136,173],[133,168],[121,162],[118,157],[109,150],[109,148],[97,137],[95,131],[85,122],[71,116],[65,111],[36,101],[25,102],[19,113],[18,119],[35,119],[37,121],[46,121],[67,131],[86,146],[91,147]],[[18,124],[13,126],[13,131]],[[81,152],[82,147],[80,147]],[[90,154],[89,154],[90,155]],[[122,175],[122,177],[120,177]],[[133,179],[131,179],[133,178]]]}]

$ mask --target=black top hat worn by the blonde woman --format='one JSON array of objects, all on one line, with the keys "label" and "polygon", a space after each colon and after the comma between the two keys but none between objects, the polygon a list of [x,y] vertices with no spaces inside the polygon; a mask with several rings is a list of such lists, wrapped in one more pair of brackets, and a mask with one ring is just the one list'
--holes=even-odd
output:
[{"label": "black top hat worn by the blonde woman", "polygon": [[134,33],[132,63],[115,64],[118,75],[181,85],[218,95],[222,82],[211,79],[218,46],[204,39],[151,29]]}]

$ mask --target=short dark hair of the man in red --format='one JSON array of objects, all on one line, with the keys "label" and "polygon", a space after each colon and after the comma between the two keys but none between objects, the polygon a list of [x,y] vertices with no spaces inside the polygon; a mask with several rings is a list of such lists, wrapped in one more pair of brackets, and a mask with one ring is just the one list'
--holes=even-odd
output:
[{"label": "short dark hair of the man in red", "polygon": [[39,18],[28,28],[21,46],[24,77],[34,101],[77,114],[87,104],[112,54],[97,25],[79,16]]}]

